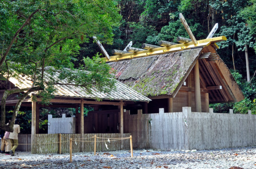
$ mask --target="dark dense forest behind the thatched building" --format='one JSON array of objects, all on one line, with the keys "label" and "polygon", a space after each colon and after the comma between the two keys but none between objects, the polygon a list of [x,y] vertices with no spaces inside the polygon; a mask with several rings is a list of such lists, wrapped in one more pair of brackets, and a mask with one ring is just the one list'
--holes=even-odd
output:
[{"label": "dark dense forest behind the thatched building", "polygon": [[[219,28],[214,37],[226,36],[227,41],[219,42],[217,53],[227,64],[235,77],[245,99],[237,103],[218,103],[210,107],[214,112],[247,113],[248,109],[256,114],[256,0],[116,0],[121,19],[112,29],[113,41],[104,43],[108,53],[112,49],[123,50],[132,41],[132,47],[141,48],[142,43],[157,45],[159,40],[176,42],[178,36],[189,38],[179,19],[179,13],[185,17],[197,40],[205,39],[215,23]],[[108,32],[109,33],[109,32]],[[104,35],[100,35],[104,36]],[[82,37],[83,38],[83,37]],[[83,57],[100,53],[92,37],[80,44],[79,52],[74,55],[73,64],[81,66]],[[250,78],[247,79],[245,51],[248,51]],[[90,108],[85,107],[85,112]],[[47,132],[47,114],[61,116],[63,111],[72,115],[73,109],[40,110],[40,132]],[[57,113],[56,113],[57,111]],[[10,118],[10,115],[7,118]],[[86,113],[85,113],[86,116]],[[18,118],[23,119],[23,129],[30,133],[30,109],[21,109]],[[23,130],[23,131],[24,131]]]}]

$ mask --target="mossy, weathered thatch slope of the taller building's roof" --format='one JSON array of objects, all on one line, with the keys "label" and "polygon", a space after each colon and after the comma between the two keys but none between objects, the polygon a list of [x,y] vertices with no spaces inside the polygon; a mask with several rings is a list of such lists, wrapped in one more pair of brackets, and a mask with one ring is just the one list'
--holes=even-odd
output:
[{"label": "mossy, weathered thatch slope of the taller building's roof", "polygon": [[201,51],[196,48],[108,64],[116,69],[119,81],[145,96],[172,95]]}]

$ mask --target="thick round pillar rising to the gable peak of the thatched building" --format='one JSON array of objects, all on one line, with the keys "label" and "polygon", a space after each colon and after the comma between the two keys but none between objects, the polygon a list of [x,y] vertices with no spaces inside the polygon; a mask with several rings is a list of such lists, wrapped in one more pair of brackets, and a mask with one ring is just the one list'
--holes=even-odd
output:
[{"label": "thick round pillar rising to the gable peak of the thatched building", "polygon": [[194,69],[194,83],[195,83],[195,108],[196,108],[196,112],[202,112],[198,60],[196,61],[196,64],[193,69]]}]

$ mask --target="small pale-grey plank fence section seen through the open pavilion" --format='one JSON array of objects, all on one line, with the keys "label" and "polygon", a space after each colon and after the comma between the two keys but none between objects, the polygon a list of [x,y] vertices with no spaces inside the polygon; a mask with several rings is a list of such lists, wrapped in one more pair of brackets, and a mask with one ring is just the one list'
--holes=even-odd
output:
[{"label": "small pale-grey plank fence section seen through the open pavilion", "polygon": [[48,134],[76,133],[76,117],[62,114],[62,118],[52,118],[52,115],[48,115],[48,123]]}]

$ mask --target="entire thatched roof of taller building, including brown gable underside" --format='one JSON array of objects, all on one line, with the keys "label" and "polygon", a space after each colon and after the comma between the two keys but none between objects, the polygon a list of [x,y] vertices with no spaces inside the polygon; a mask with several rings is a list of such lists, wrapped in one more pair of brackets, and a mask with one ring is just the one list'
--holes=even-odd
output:
[{"label": "entire thatched roof of taller building, including brown gable underside", "polygon": [[[215,54],[216,59],[199,59],[201,53],[208,52]],[[158,95],[175,97],[179,90],[193,91],[194,88],[184,88],[185,86],[182,85],[197,60],[199,60],[200,88],[209,93],[210,103],[239,102],[244,99],[228,67],[216,53],[214,44],[108,64],[116,69],[116,78],[119,81],[153,98]],[[218,86],[220,89],[214,89]]]}]

